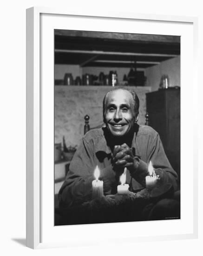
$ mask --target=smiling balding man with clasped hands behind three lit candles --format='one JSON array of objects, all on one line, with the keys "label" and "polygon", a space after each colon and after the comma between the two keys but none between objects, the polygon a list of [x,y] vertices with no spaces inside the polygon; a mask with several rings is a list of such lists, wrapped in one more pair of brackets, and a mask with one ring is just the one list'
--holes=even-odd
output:
[{"label": "smiling balding man with clasped hands behind three lit candles", "polygon": [[143,189],[150,161],[162,183],[171,183],[177,189],[177,174],[164,153],[159,135],[151,127],[137,124],[138,110],[139,99],[134,91],[116,88],[105,95],[105,128],[92,129],[83,137],[59,191],[61,207],[91,199],[96,166],[105,194],[117,193],[124,168],[129,189]]}]

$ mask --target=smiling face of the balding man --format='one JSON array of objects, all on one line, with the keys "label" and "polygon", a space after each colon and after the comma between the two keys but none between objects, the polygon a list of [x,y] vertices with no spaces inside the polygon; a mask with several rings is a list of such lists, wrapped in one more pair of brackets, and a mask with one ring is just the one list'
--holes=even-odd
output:
[{"label": "smiling face of the balding man", "polygon": [[134,126],[134,100],[130,92],[118,89],[105,100],[104,121],[113,136],[127,135]]}]

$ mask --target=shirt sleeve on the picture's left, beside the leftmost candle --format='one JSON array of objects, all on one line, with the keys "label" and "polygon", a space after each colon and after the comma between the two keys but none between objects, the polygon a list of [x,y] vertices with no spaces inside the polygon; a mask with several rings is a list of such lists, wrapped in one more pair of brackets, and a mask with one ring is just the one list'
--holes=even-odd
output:
[{"label": "shirt sleeve on the picture's left, beside the leftmost candle", "polygon": [[[91,200],[95,167],[94,143],[92,140],[87,142],[84,137],[73,156],[65,182],[59,190],[60,207],[70,207]],[[111,189],[111,184],[115,181],[111,165],[100,170],[99,179],[104,182],[104,192]]]}]

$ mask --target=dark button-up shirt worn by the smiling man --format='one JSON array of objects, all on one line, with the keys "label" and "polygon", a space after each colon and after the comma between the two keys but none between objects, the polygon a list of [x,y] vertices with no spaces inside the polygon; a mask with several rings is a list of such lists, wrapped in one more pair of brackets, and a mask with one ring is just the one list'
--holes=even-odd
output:
[{"label": "dark button-up shirt worn by the smiling man", "polygon": [[[94,170],[98,165],[99,179],[104,182],[104,193],[117,192],[118,172],[112,164],[112,141],[106,136],[107,128],[92,129],[82,141],[72,159],[69,172],[59,190],[60,207],[72,206],[91,199],[92,181],[95,180]],[[116,145],[116,142],[114,143]],[[168,161],[158,133],[149,126],[138,126],[135,130],[132,152],[138,157],[138,171],[127,170],[126,183],[135,192],[145,187],[145,176],[149,175],[148,165],[152,162],[156,175],[162,183],[170,182],[177,189],[177,173]]]}]

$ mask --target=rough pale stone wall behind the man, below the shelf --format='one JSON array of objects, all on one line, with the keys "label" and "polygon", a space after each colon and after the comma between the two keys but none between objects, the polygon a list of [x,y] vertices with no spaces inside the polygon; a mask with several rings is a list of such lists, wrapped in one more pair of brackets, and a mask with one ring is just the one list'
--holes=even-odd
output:
[{"label": "rough pale stone wall behind the man, below the shelf", "polygon": [[[145,93],[150,87],[131,87],[140,100],[139,124],[144,124],[146,114]],[[103,124],[102,101],[110,86],[55,86],[54,87],[54,128],[55,143],[62,141],[63,135],[67,146],[79,144],[84,135],[84,116],[90,116],[90,127]]]}]

